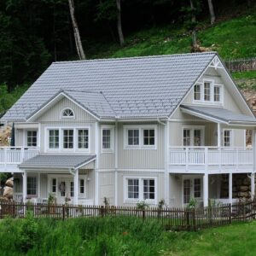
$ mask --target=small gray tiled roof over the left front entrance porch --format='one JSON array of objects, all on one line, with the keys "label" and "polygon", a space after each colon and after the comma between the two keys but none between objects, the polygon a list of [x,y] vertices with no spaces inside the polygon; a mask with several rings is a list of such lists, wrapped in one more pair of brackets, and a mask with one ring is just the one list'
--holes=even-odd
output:
[{"label": "small gray tiled roof over the left front entrance porch", "polygon": [[20,164],[20,169],[78,169],[96,159],[95,154],[38,154]]}]

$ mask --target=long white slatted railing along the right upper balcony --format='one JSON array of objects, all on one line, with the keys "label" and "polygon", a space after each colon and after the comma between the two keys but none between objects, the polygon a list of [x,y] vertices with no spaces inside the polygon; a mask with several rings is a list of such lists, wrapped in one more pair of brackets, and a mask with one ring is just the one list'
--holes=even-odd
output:
[{"label": "long white slatted railing along the right upper balcony", "polygon": [[173,166],[253,165],[253,149],[224,147],[170,147],[169,164]]}]

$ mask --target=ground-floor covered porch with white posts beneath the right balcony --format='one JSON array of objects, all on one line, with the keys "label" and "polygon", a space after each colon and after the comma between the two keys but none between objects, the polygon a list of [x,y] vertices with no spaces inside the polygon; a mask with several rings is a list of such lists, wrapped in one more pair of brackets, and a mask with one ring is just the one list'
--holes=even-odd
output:
[{"label": "ground-floor covered porch with white posts beneath the right balcony", "polygon": [[254,173],[170,174],[170,206],[187,207],[195,200],[196,207],[208,207],[253,199],[254,179]]}]

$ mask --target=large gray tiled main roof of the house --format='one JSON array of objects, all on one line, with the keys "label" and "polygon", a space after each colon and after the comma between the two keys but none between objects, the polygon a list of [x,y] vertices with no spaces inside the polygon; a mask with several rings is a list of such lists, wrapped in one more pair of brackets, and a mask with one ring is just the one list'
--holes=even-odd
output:
[{"label": "large gray tiled main roof of the house", "polygon": [[215,55],[207,52],[55,62],[9,109],[3,120],[27,119],[59,90],[73,90],[68,93],[87,108],[93,97],[86,94],[95,92],[96,101],[104,96],[110,116],[115,113],[118,118],[166,117]]}]

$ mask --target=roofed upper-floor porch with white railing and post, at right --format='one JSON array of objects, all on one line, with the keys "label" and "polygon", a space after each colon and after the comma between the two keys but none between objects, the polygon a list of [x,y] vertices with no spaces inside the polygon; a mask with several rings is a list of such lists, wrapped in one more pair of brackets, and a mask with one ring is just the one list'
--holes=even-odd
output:
[{"label": "roofed upper-floor porch with white railing and post, at right", "polygon": [[[256,119],[241,113],[217,107],[198,107],[181,105],[182,113],[191,118],[200,118],[214,125],[211,132],[205,131],[207,145],[202,139],[202,128],[186,130],[183,133],[183,145],[171,146],[168,152],[170,173],[251,173],[255,172],[255,127]],[[200,125],[199,125],[200,127]],[[207,129],[206,129],[207,130]],[[246,145],[245,132],[236,134],[232,131],[252,130],[252,145]],[[189,135],[190,132],[190,135]],[[191,133],[193,133],[191,135]],[[191,143],[193,140],[194,143]],[[240,141],[235,146],[234,140]]]}]

